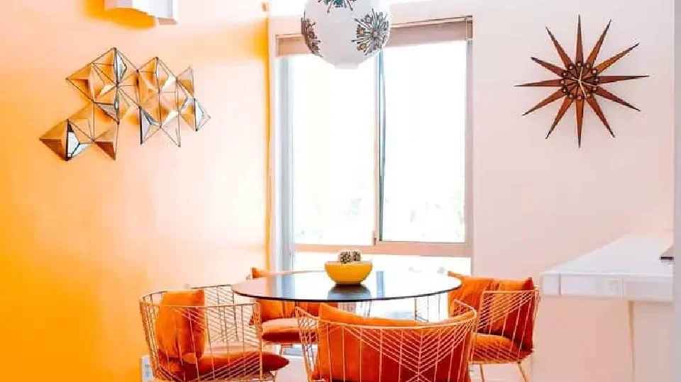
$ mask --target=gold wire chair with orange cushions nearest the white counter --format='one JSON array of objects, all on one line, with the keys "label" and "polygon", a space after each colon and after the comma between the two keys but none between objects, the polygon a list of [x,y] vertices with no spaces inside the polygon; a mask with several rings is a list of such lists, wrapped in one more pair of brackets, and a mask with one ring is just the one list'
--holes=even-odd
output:
[{"label": "gold wire chair with orange cushions nearest the white counter", "polygon": [[533,291],[485,291],[480,300],[480,322],[475,330],[472,364],[516,364],[529,382],[522,362],[533,352],[533,332],[540,294]]}]

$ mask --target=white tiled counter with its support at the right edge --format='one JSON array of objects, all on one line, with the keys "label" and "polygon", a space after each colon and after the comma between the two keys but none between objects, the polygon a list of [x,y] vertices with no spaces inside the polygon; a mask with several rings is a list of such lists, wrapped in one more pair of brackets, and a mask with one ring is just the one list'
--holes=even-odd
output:
[{"label": "white tiled counter with its support at the right edge", "polygon": [[[543,296],[616,298],[629,305],[631,381],[671,381],[672,234],[628,235],[544,272]],[[681,259],[678,259],[681,262]]]}]

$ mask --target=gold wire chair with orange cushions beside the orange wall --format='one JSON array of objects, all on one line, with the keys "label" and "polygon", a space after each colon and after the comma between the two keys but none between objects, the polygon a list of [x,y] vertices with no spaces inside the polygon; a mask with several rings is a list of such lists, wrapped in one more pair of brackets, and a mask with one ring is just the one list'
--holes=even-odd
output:
[{"label": "gold wire chair with orange cushions beside the orange wall", "polygon": [[[262,369],[258,304],[235,298],[231,285],[192,288],[199,289],[204,291],[205,305],[162,304],[161,300],[168,291],[149,293],[139,300],[155,381],[272,380],[272,373],[263,372]],[[157,324],[160,315],[168,313],[188,322],[189,333],[200,333],[201,340],[188,335],[191,338],[190,344],[184,349],[184,352],[196,354],[195,361],[187,361],[164,352]],[[187,328],[183,328],[178,321],[172,320],[172,334],[186,335]]]}]

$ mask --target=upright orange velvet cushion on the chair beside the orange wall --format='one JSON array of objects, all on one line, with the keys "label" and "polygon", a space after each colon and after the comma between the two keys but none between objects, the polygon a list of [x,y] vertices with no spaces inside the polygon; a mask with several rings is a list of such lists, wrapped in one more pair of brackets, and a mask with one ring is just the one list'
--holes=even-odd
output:
[{"label": "upright orange velvet cushion on the chair beside the orange wall", "polygon": [[166,292],[156,318],[156,341],[160,352],[184,363],[196,364],[206,343],[206,305],[202,289]]}]

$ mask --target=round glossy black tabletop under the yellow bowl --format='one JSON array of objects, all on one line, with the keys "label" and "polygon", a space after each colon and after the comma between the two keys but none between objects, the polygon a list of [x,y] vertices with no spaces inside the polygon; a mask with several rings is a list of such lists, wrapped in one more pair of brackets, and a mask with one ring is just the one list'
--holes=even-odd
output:
[{"label": "round glossy black tabletop under the yellow bowl", "polygon": [[336,286],[326,272],[312,271],[243,281],[232,288],[262,300],[355,303],[433,296],[459,286],[461,281],[453,277],[412,271],[373,271],[359,286]]}]

